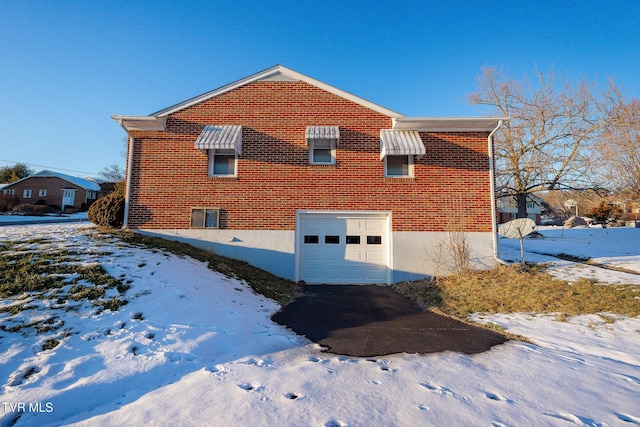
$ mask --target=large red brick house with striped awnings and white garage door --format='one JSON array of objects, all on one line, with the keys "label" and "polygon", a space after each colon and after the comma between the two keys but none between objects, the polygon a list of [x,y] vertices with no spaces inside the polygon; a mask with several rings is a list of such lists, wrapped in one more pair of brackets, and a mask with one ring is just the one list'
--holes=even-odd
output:
[{"label": "large red brick house with striped awnings and white garage door", "polygon": [[499,118],[408,118],[278,65],[113,119],[126,227],[306,283],[422,278],[453,228],[497,257]]}]

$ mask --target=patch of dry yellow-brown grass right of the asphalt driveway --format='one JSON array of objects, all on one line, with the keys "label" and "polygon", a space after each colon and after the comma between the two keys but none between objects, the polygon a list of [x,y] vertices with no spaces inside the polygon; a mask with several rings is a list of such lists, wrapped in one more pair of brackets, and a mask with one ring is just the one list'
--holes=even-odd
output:
[{"label": "patch of dry yellow-brown grass right of the asphalt driveway", "polygon": [[462,318],[470,313],[521,312],[640,315],[640,286],[597,285],[587,279],[568,283],[514,266],[401,283],[396,289],[424,308],[438,308]]}]

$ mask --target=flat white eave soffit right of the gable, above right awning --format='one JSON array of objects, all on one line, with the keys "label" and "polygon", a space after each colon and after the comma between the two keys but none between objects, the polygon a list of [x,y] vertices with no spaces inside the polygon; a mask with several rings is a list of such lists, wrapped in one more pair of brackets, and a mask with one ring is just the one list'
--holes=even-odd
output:
[{"label": "flat white eave soffit right of the gable, above right awning", "polygon": [[491,132],[508,117],[397,117],[394,130],[422,132]]}]

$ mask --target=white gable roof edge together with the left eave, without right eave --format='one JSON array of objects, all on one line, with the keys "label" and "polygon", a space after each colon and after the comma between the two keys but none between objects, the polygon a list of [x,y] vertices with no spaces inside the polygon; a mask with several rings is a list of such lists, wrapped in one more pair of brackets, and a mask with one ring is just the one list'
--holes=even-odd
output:
[{"label": "white gable roof edge together with the left eave, without right eave", "polygon": [[203,93],[202,95],[195,96],[193,98],[187,99],[186,101],[172,105],[160,111],[156,111],[155,113],[152,113],[148,116],[117,116],[116,115],[116,116],[111,116],[111,118],[117,121],[118,123],[120,123],[120,126],[122,126],[125,129],[125,131],[164,130],[166,121],[167,121],[167,116],[256,81],[302,81],[312,86],[316,86],[320,89],[326,90],[327,92],[333,93],[334,95],[345,98],[349,101],[355,102],[356,104],[360,104],[363,107],[370,108],[371,110],[377,111],[386,116],[389,116],[392,118],[404,117],[402,114],[396,111],[389,110],[388,108],[384,108],[371,101],[367,101],[364,98],[360,98],[359,96],[353,95],[349,92],[345,92],[341,89],[330,86],[326,83],[313,79],[304,74],[298,73],[297,71],[293,71],[282,65],[275,65],[271,68],[267,68],[266,70],[252,74],[243,79],[236,80],[235,82],[221,86],[212,91]]}]

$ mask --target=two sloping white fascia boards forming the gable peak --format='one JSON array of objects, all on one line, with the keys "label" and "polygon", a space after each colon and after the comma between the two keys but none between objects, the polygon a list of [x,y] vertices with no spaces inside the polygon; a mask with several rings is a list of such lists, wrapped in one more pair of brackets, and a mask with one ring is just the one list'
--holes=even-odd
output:
[{"label": "two sloping white fascia boards forming the gable peak", "polygon": [[327,92],[333,93],[334,95],[338,95],[344,99],[347,99],[349,101],[352,101],[356,104],[360,104],[364,107],[367,107],[371,110],[377,111],[381,114],[384,114],[386,116],[395,118],[395,117],[404,117],[403,114],[400,114],[396,111],[393,110],[389,110],[388,108],[384,108],[378,104],[374,104],[371,101],[367,101],[366,99],[360,98],[356,95],[353,95],[349,92],[345,92],[341,89],[338,89],[336,87],[330,86],[326,83],[323,83],[319,80],[313,79],[309,76],[306,76],[304,74],[298,73],[297,71],[293,71],[287,67],[284,67],[282,65],[276,65],[273,66],[271,68],[267,68],[266,70],[260,71],[258,73],[252,74],[248,77],[245,77],[243,79],[240,80],[236,80],[235,82],[229,83],[227,85],[221,86],[217,89],[214,89],[212,91],[203,93],[202,95],[198,95],[196,97],[187,99],[186,101],[180,102],[178,104],[172,105],[171,107],[165,108],[163,110],[160,111],[156,111],[155,113],[152,114],[152,116],[158,116],[158,117],[165,117],[168,116],[170,114],[173,114],[177,111],[183,110],[185,108],[191,107],[195,104],[199,104],[203,101],[206,101],[208,99],[211,98],[215,98],[216,96],[220,96],[224,93],[227,93],[229,91],[232,91],[238,87],[244,86],[246,84],[258,81],[258,80],[262,80],[262,79],[266,79],[268,77],[277,75],[277,74],[283,74],[285,76],[288,76],[290,78],[293,78],[295,80],[300,80],[303,81],[305,83],[308,83],[312,86],[316,86],[320,89],[326,90]]}]

